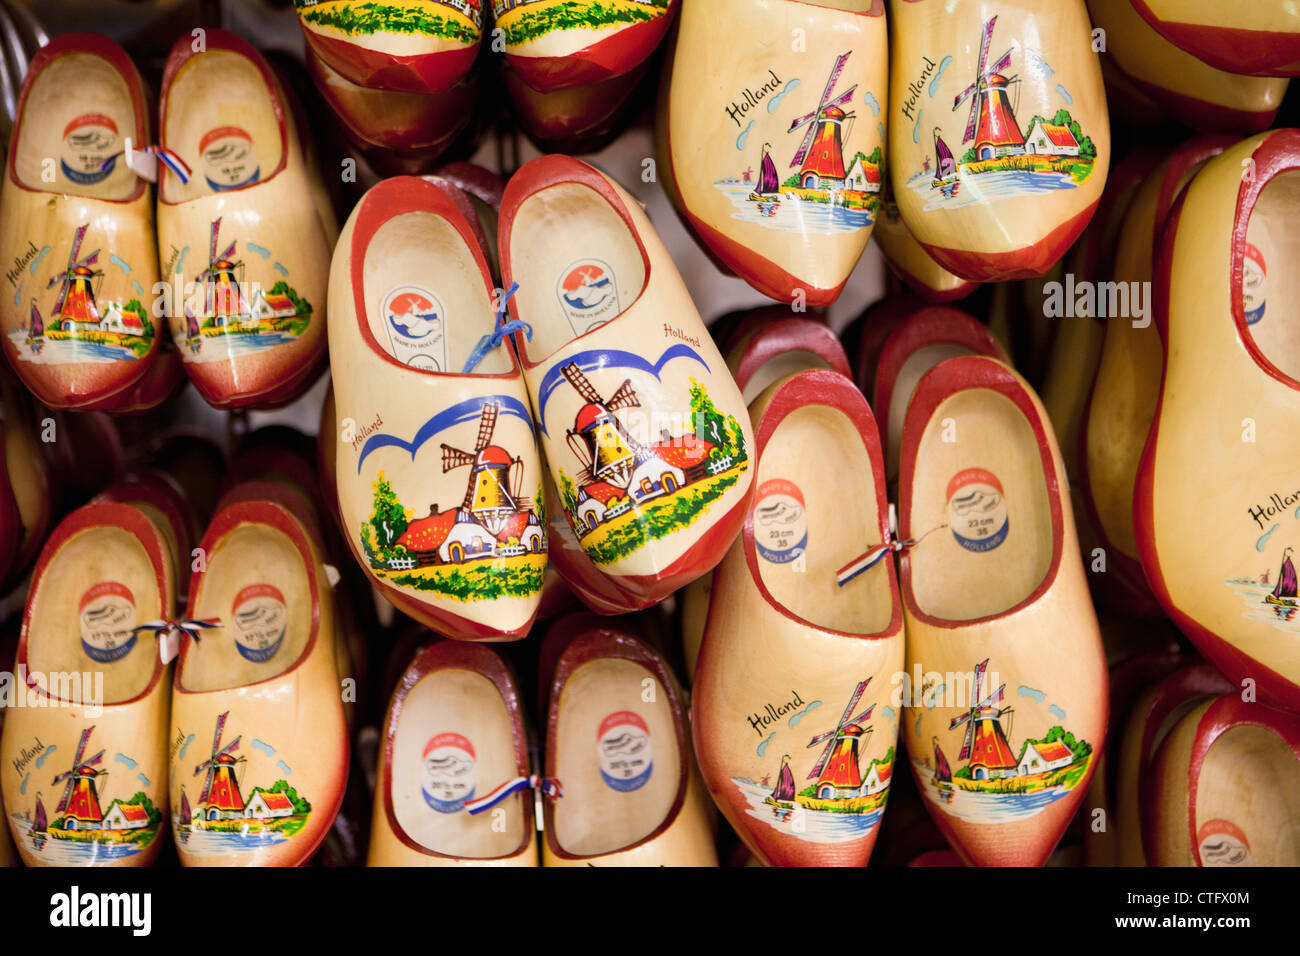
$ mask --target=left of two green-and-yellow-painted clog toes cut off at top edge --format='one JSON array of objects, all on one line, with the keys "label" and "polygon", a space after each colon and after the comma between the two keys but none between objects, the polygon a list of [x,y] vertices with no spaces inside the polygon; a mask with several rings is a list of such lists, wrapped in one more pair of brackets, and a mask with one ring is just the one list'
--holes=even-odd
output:
[{"label": "left of two green-and-yellow-painted clog toes cut off at top edge", "polygon": [[482,44],[486,0],[300,0],[312,55],[370,90],[445,92],[464,79]]}]

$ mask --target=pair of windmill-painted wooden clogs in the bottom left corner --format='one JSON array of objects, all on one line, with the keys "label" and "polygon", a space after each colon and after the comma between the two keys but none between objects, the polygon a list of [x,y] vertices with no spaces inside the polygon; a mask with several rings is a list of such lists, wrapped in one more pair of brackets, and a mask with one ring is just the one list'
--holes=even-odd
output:
[{"label": "pair of windmill-painted wooden clogs in the bottom left corner", "polygon": [[346,674],[318,532],[272,494],[229,496],[192,553],[174,498],[143,481],[51,535],[0,739],[27,865],[147,865],[168,831],[185,865],[296,865],[324,839]]}]

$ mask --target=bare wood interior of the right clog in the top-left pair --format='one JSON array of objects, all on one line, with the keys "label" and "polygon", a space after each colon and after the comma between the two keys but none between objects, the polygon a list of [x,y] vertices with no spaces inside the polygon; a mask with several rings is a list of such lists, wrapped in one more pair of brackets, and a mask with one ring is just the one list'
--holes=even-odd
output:
[{"label": "bare wood interior of the right clog in the top-left pair", "polygon": [[257,65],[239,53],[209,49],[186,60],[162,116],[162,142],[194,170],[188,183],[161,177],[165,202],[264,182],[280,166],[276,100]]}]

